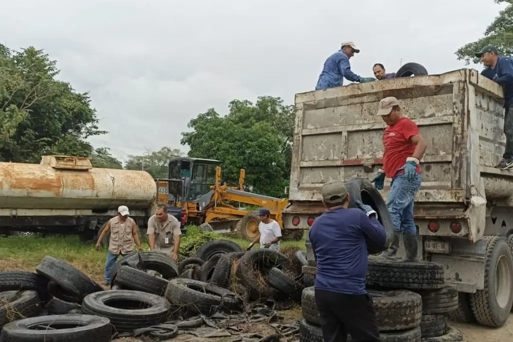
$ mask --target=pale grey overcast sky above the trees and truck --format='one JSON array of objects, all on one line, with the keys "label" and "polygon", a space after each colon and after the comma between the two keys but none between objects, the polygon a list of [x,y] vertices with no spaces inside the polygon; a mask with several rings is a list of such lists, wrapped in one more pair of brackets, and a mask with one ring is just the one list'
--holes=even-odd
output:
[{"label": "pale grey overcast sky above the trees and truck", "polygon": [[[504,7],[504,6],[502,6]],[[327,56],[352,40],[351,69],[372,76],[417,62],[463,68],[454,52],[482,36],[492,0],[3,1],[4,44],[45,49],[60,78],[90,91],[114,156],[180,148],[189,119],[234,98],[312,90]],[[481,66],[477,67],[479,70]],[[345,84],[350,83],[345,80]]]}]

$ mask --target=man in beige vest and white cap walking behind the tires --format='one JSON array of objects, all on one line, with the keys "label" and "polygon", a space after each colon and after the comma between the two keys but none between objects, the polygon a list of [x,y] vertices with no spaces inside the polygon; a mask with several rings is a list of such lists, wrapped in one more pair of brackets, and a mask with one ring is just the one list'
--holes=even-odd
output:
[{"label": "man in beige vest and white cap walking behind the tires", "polygon": [[141,239],[137,229],[137,224],[133,218],[128,217],[130,212],[127,206],[117,208],[118,215],[108,220],[105,228],[98,236],[96,249],[102,248],[102,240],[110,232],[109,250],[107,251],[107,259],[105,260],[105,285],[110,285],[110,271],[116,263],[117,257],[127,255],[133,252],[133,243],[137,244],[139,251],[143,251]]}]

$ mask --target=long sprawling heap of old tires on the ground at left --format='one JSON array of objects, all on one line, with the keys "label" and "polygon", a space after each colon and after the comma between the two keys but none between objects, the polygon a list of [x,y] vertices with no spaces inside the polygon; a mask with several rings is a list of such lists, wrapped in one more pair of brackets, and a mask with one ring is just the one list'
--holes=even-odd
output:
[{"label": "long sprawling heap of old tires on the ground at left", "polygon": [[110,290],[45,256],[35,272],[0,272],[0,341],[106,342],[176,317],[241,312],[249,300],[299,303],[306,260],[298,256],[291,263],[268,249],[244,253],[228,240],[207,242],[179,265],[160,252],[135,252],[112,268]]}]

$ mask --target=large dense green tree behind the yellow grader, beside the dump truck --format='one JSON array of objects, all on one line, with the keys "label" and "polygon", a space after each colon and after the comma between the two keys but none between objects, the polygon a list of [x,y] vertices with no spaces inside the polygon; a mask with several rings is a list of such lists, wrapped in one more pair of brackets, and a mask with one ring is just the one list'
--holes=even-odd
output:
[{"label": "large dense green tree behind the yellow grader, beside the dump truck", "polygon": [[232,100],[221,117],[213,108],[189,121],[182,133],[191,157],[218,159],[223,180],[236,184],[246,169],[247,186],[255,193],[284,197],[289,183],[293,136],[293,106],[279,97],[262,96],[255,104]]}]

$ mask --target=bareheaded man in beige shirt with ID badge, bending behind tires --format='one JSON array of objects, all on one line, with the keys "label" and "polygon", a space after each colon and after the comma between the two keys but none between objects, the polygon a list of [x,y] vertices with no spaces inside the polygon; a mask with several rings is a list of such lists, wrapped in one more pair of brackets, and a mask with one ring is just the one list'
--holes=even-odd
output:
[{"label": "bareheaded man in beige shirt with ID badge, bending behind tires", "polygon": [[157,205],[155,214],[149,218],[147,234],[151,251],[171,254],[173,260],[178,260],[180,222],[167,213],[165,204]]}]

